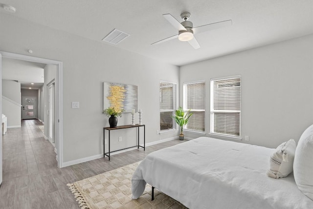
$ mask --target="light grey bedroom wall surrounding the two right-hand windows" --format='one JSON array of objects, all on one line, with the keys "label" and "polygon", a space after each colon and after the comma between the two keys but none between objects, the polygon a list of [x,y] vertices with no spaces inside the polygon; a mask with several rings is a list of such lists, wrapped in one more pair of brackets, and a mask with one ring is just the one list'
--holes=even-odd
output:
[{"label": "light grey bedroom wall surrounding the two right-hand windows", "polygon": [[205,132],[209,133],[210,79],[240,74],[241,135],[250,137],[248,143],[274,148],[288,139],[298,141],[313,123],[312,60],[313,35],[309,35],[183,66],[180,89],[183,82],[205,79]]}]

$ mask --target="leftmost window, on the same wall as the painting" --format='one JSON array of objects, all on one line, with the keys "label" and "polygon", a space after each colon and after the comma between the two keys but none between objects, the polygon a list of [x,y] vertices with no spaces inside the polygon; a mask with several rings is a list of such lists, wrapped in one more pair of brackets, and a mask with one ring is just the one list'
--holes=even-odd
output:
[{"label": "leftmost window, on the same wall as the painting", "polygon": [[176,128],[172,117],[176,110],[176,84],[160,81],[160,130],[165,131]]}]

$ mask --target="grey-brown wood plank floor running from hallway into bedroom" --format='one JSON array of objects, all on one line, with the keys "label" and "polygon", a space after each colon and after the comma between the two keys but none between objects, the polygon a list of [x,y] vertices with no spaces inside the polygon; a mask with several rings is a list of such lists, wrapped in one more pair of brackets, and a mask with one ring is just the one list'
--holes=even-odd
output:
[{"label": "grey-brown wood plank floor running from hallway into bedroom", "polygon": [[22,120],[22,128],[10,128],[2,136],[0,209],[79,209],[67,188],[73,183],[143,160],[158,149],[182,141],[172,140],[111,156],[57,168],[52,144],[45,140],[39,120]]}]

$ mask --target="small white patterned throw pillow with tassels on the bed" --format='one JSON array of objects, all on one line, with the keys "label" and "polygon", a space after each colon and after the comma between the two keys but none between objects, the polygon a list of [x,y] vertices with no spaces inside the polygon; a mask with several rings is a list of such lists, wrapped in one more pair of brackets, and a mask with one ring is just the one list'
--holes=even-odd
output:
[{"label": "small white patterned throw pillow with tassels on the bed", "polygon": [[293,139],[280,144],[269,159],[269,177],[279,179],[292,172],[296,143]]}]

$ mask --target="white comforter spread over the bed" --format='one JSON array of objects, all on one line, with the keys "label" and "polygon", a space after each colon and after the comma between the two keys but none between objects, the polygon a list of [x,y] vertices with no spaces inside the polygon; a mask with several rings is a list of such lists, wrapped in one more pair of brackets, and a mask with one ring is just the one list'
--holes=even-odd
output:
[{"label": "white comforter spread over the bed", "polygon": [[293,175],[266,175],[274,149],[201,137],[149,154],[132,179],[133,199],[146,183],[190,209],[313,209]]}]

